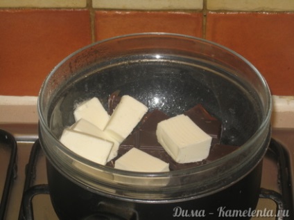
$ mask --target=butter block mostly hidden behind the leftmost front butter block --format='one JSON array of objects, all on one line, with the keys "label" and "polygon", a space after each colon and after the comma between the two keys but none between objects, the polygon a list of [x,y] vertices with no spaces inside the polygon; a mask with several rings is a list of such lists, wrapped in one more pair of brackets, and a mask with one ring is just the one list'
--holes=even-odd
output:
[{"label": "butter block mostly hidden behind the leftmost front butter block", "polygon": [[78,122],[74,123],[74,125],[71,126],[71,129],[112,142],[113,145],[110,151],[110,155],[107,158],[107,162],[111,161],[113,158],[117,156],[117,152],[119,150],[119,143],[114,138],[107,135],[104,131],[93,125],[91,122],[88,122],[87,120],[81,118],[80,120],[78,120]]}]

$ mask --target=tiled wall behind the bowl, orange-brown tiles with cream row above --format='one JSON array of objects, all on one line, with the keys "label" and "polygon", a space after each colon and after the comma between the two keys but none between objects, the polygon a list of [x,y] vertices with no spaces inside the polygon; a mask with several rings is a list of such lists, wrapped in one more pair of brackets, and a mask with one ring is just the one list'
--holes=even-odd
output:
[{"label": "tiled wall behind the bowl, orange-brown tiles with cream row above", "polygon": [[274,95],[294,95],[293,0],[1,0],[0,95],[37,95],[78,48],[141,32],[223,44],[249,59]]}]

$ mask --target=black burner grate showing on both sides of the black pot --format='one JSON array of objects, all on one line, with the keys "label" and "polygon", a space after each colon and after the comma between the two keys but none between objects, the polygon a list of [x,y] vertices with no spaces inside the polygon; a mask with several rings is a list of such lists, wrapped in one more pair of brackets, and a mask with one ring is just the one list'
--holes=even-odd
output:
[{"label": "black burner grate showing on both sides of the black pot", "polygon": [[[26,166],[26,181],[24,185],[24,194],[21,202],[21,209],[19,211],[19,220],[33,220],[33,197],[37,194],[49,194],[49,187],[46,184],[33,185],[35,179],[36,161],[37,156],[41,151],[39,140],[37,140],[31,150],[31,156]],[[268,151],[272,151],[277,156],[278,169],[279,169],[279,187],[281,193],[274,190],[267,190],[261,188],[260,198],[270,199],[275,202],[277,206],[276,214],[277,220],[286,220],[293,218],[293,202],[292,202],[292,190],[291,179],[289,170],[291,169],[288,154],[284,150],[281,144],[276,140],[271,140]],[[286,211],[286,212],[285,212]],[[286,216],[285,216],[286,214]]]}]

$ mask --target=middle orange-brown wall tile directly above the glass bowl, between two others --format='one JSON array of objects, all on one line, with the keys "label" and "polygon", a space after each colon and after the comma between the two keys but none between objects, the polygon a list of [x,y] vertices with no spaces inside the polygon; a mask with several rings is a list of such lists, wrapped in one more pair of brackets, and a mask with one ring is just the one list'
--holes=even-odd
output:
[{"label": "middle orange-brown wall tile directly above the glass bowl, between two others", "polygon": [[97,10],[95,15],[97,40],[144,32],[202,37],[202,13]]}]

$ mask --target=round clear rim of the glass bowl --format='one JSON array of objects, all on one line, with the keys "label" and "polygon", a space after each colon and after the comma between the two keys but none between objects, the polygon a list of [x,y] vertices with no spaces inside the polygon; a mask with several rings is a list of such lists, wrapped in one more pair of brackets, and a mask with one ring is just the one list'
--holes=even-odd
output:
[{"label": "round clear rim of the glass bowl", "polygon": [[[55,71],[58,70],[58,68],[60,68],[60,66],[62,66],[62,64],[64,64],[64,62],[66,62],[67,60],[71,59],[71,57],[74,57],[75,55],[77,55],[78,53],[87,50],[88,48],[91,48],[93,46],[96,46],[98,44],[103,44],[104,42],[109,42],[109,41],[114,41],[116,39],[126,39],[126,38],[130,38],[130,37],[174,37],[174,38],[183,38],[183,39],[190,39],[193,41],[197,41],[197,42],[204,42],[206,44],[211,44],[213,46],[216,46],[224,51],[227,51],[229,53],[232,53],[232,55],[239,57],[239,59],[241,59],[243,62],[245,62],[245,64],[247,64],[250,68],[252,68],[252,71],[254,71],[254,73],[257,74],[257,76],[259,77],[259,80],[263,86],[263,89],[266,90],[266,100],[267,102],[265,103],[267,106],[268,111],[266,111],[266,115],[264,116],[263,121],[261,122],[261,125],[259,126],[259,128],[257,129],[257,131],[244,143],[243,146],[248,146],[252,143],[252,141],[254,141],[259,132],[261,132],[262,129],[265,129],[265,127],[268,127],[269,122],[270,122],[270,116],[272,113],[272,108],[273,108],[273,103],[271,100],[271,95],[270,95],[270,89],[268,87],[268,84],[265,80],[265,78],[263,77],[263,75],[261,75],[261,73],[259,73],[259,71],[257,70],[257,68],[255,66],[253,66],[253,64],[251,62],[248,61],[248,59],[245,59],[245,57],[243,57],[242,55],[240,55],[239,53],[236,53],[235,51],[232,51],[232,49],[227,48],[226,46],[220,45],[216,42],[211,42],[207,39],[202,39],[200,37],[193,37],[190,35],[182,35],[182,34],[178,34],[178,33],[162,33],[162,32],[150,32],[150,33],[132,33],[132,34],[128,34],[128,35],[120,35],[120,36],[115,36],[115,37],[110,37],[108,39],[103,39],[101,41],[98,42],[94,42],[92,44],[89,44],[87,46],[84,46],[83,48],[78,49],[77,51],[75,51],[74,53],[71,53],[70,55],[68,55],[67,57],[65,57],[64,59],[62,59],[62,61],[60,63],[58,63],[58,65],[56,65],[53,70],[49,73],[49,75],[46,76],[41,89],[40,89],[40,93],[38,95],[38,99],[37,99],[37,111],[38,111],[38,115],[39,115],[39,120],[40,120],[40,124],[42,129],[44,129],[44,132],[46,132],[46,134],[49,134],[49,136],[51,136],[51,138],[54,139],[56,144],[62,145],[60,143],[60,141],[58,140],[57,137],[55,137],[55,135],[53,135],[53,133],[51,132],[51,129],[49,128],[49,125],[47,124],[45,118],[44,118],[44,109],[42,107],[42,97],[44,96],[44,91],[46,89],[46,84],[48,84],[51,76],[55,73]],[[158,172],[158,173],[146,173],[146,172],[130,172],[130,171],[125,171],[125,170],[120,170],[120,169],[114,169],[112,167],[107,167],[105,165],[100,165],[98,163],[94,163],[92,161],[88,161],[87,159],[78,156],[76,154],[74,154],[73,152],[71,152],[70,150],[67,149],[67,147],[65,147],[63,145],[65,152],[67,152],[67,154],[70,154],[71,157],[73,158],[77,158],[77,161],[81,161],[82,163],[87,163],[93,167],[96,167],[98,169],[102,169],[105,170],[106,172],[112,172],[112,173],[116,173],[116,174],[123,174],[123,175],[127,175],[127,176],[150,176],[150,177],[166,177],[166,176],[170,176],[172,175],[179,175],[183,173],[183,170],[174,170],[174,171],[170,171],[170,172]],[[231,156],[234,157],[237,152],[239,152],[239,150],[244,149],[246,147],[240,147],[239,149],[237,149],[236,151],[232,152],[230,155],[227,156]],[[223,158],[227,158],[227,156],[224,156]],[[196,172],[196,171],[200,171],[200,169],[210,169],[211,167],[214,167],[216,165],[220,165],[221,160],[223,160],[223,158],[220,158],[216,161],[212,161],[211,163],[207,163],[207,164],[203,164],[197,167],[192,167],[189,169],[184,169],[185,173],[191,173],[191,172]]]}]

